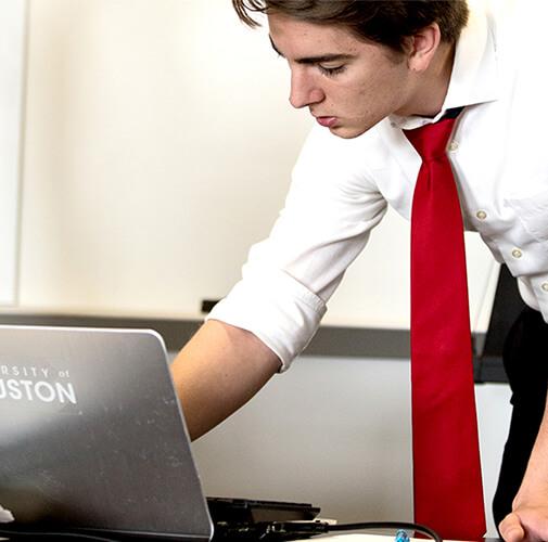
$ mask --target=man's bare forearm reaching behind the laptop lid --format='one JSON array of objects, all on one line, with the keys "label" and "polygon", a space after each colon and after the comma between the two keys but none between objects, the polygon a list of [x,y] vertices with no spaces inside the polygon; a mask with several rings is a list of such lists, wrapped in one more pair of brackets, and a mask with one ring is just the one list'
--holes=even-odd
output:
[{"label": "man's bare forearm reaching behind the laptop lid", "polygon": [[255,335],[207,321],[171,364],[192,439],[247,402],[280,369],[280,359]]}]

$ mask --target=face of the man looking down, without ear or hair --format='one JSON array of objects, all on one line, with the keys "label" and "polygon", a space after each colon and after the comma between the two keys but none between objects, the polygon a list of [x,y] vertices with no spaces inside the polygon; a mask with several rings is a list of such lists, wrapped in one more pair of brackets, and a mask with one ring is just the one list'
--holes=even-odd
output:
[{"label": "face of the man looking down, without ear or hair", "polygon": [[393,113],[409,114],[412,77],[404,54],[347,29],[268,17],[272,47],[291,69],[290,102],[308,107],[341,138],[355,138]]}]

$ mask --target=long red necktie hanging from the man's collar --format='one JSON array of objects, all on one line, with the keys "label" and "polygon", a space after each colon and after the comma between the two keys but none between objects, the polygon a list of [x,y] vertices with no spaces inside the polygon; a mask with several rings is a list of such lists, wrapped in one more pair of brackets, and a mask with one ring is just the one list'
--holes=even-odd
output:
[{"label": "long red necktie hanging from the man's collar", "polygon": [[406,131],[422,158],[411,211],[415,519],[445,539],[485,533],[464,238],[446,155],[455,118]]}]

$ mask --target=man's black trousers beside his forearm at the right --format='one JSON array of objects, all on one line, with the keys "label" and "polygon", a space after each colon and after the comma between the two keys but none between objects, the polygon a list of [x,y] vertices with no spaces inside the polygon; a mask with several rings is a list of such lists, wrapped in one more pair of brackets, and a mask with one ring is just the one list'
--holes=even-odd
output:
[{"label": "man's black trousers beside his forearm at the right", "polygon": [[513,409],[493,501],[497,526],[511,512],[546,404],[548,324],[539,312],[530,308],[521,312],[506,338],[502,360]]}]

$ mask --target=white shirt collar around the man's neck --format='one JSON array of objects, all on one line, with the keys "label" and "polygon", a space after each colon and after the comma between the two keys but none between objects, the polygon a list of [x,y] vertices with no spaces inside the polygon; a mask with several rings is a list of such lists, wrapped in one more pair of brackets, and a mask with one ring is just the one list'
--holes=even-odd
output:
[{"label": "white shirt collar around the man's neck", "polygon": [[455,51],[449,88],[442,107],[435,117],[400,117],[391,115],[393,127],[410,130],[436,122],[447,109],[497,100],[498,66],[493,22],[483,1],[469,2],[470,16],[462,29]]}]

